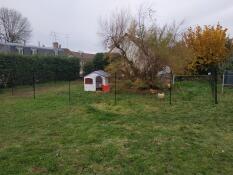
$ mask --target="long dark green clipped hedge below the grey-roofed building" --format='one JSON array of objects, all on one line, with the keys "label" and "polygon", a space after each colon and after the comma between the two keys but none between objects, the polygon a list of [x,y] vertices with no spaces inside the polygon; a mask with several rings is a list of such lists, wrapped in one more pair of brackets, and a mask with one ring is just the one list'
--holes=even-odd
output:
[{"label": "long dark green clipped hedge below the grey-roofed building", "polygon": [[78,58],[0,54],[1,87],[32,84],[33,74],[37,83],[75,80],[79,71]]}]

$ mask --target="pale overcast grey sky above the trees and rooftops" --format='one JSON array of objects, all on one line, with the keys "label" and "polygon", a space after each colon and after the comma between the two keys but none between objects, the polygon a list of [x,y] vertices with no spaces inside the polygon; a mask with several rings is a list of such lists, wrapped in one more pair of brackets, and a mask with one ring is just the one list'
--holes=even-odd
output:
[{"label": "pale overcast grey sky above the trees and rooftops", "polygon": [[98,36],[99,19],[116,9],[132,13],[141,4],[152,5],[158,23],[180,22],[184,26],[217,24],[233,35],[233,0],[0,0],[0,7],[14,8],[29,19],[33,28],[30,44],[51,46],[56,32],[63,47],[74,51],[104,51]]}]

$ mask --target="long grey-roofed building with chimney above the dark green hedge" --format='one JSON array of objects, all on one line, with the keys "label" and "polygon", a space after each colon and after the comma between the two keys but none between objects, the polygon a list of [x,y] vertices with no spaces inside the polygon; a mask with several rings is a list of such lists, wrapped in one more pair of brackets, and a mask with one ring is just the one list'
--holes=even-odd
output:
[{"label": "long grey-roofed building with chimney above the dark green hedge", "polygon": [[19,43],[0,42],[0,53],[12,53],[20,55],[64,55],[64,49],[57,43],[53,43],[53,47],[41,47]]}]

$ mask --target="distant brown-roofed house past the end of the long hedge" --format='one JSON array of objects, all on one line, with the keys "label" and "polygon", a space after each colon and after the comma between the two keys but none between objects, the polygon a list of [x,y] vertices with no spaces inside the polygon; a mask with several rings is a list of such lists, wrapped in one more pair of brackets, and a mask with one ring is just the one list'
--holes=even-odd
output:
[{"label": "distant brown-roofed house past the end of the long hedge", "polygon": [[84,53],[84,52],[73,52],[69,49],[64,49],[64,53],[67,56],[73,56],[80,59],[80,75],[83,75],[83,68],[87,62],[93,61],[95,54]]}]

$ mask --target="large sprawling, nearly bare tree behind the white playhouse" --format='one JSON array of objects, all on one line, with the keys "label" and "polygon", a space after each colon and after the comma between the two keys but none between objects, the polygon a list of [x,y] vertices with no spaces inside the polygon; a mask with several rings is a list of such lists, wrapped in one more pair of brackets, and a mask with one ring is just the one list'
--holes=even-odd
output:
[{"label": "large sprawling, nearly bare tree behind the white playhouse", "polygon": [[136,17],[127,11],[112,15],[102,22],[102,37],[109,53],[116,50],[122,64],[116,64],[127,78],[143,80],[148,84],[157,81],[157,74],[165,66],[172,66],[179,42],[176,25],[156,25],[151,8],[141,7]]}]

